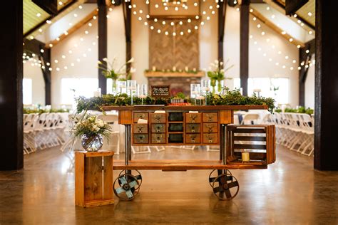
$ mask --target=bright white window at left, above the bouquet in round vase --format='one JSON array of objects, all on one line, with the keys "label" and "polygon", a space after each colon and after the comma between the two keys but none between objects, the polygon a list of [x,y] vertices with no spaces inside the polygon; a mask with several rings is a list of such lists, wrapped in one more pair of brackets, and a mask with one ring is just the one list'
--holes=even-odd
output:
[{"label": "bright white window at left, above the bouquet in round vase", "polygon": [[98,89],[97,78],[62,78],[61,79],[61,104],[73,105],[74,98],[84,96],[93,97]]}]

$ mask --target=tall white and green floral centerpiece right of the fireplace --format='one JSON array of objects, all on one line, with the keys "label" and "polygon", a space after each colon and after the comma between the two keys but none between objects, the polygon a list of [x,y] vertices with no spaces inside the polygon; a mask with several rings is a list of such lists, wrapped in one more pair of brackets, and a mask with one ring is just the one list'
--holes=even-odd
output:
[{"label": "tall white and green floral centerpiece right of the fireplace", "polygon": [[212,94],[215,94],[216,85],[217,85],[217,92],[220,93],[222,91],[222,80],[231,79],[225,77],[225,72],[230,70],[234,65],[229,67],[227,66],[229,60],[225,63],[222,61],[215,60],[214,63],[210,63],[209,71],[207,72],[208,78],[210,78],[210,85],[212,87]]}]

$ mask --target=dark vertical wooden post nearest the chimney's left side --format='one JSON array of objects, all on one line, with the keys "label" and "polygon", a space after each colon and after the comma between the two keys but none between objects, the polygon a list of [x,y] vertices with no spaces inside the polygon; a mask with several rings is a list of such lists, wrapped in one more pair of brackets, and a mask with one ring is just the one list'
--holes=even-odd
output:
[{"label": "dark vertical wooden post nearest the chimney's left side", "polygon": [[[124,28],[126,31],[126,62],[131,58],[131,10],[128,8],[131,6],[131,1],[123,1],[123,18]],[[130,71],[130,63],[127,64],[127,72]]]}]

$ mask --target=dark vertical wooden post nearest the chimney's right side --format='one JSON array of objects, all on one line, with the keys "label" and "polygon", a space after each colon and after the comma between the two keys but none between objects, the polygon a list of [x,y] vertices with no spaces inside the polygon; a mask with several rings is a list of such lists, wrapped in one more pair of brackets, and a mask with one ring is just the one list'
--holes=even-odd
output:
[{"label": "dark vertical wooden post nearest the chimney's right side", "polygon": [[227,4],[224,1],[218,3],[220,8],[218,8],[218,61],[223,62],[223,41],[224,41],[224,32],[225,32],[225,15],[227,12]]}]

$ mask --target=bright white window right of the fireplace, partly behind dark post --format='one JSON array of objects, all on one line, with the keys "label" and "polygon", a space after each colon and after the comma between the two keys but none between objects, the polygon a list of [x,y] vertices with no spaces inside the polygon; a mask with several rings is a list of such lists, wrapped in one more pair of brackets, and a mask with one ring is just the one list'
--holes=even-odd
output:
[{"label": "bright white window right of the fireplace, partly behind dark post", "polygon": [[[240,78],[234,79],[234,88],[240,88]],[[260,95],[263,97],[275,98],[277,104],[290,103],[289,78],[249,78],[248,95],[252,95],[255,89],[260,89]]]}]

